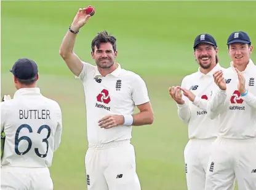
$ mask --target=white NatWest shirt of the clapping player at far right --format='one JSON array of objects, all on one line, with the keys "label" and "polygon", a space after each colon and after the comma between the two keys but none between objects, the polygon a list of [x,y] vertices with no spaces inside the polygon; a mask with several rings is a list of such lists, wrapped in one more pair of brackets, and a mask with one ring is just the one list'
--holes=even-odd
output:
[{"label": "white NatWest shirt of the clapping player at far right", "polygon": [[238,74],[233,63],[223,71],[226,91],[220,88],[209,102],[208,113],[211,118],[220,118],[220,137],[228,139],[256,138],[256,66],[249,61],[242,72],[249,93],[241,97],[238,91]]}]

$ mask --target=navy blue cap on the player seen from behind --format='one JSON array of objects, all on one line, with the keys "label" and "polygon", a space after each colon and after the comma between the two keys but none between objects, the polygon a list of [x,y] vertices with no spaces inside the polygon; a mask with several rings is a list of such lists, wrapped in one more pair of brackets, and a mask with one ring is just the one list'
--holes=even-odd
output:
[{"label": "navy blue cap on the player seen from behind", "polygon": [[31,59],[18,59],[10,72],[20,80],[28,80],[36,77],[38,74],[38,65]]}]

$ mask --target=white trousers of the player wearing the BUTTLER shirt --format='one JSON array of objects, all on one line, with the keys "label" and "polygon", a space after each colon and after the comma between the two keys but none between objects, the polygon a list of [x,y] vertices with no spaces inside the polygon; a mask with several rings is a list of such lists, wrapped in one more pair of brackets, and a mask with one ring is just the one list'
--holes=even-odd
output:
[{"label": "white trousers of the player wearing the BUTTLER shirt", "polygon": [[45,168],[1,167],[1,190],[52,190],[54,184]]}]

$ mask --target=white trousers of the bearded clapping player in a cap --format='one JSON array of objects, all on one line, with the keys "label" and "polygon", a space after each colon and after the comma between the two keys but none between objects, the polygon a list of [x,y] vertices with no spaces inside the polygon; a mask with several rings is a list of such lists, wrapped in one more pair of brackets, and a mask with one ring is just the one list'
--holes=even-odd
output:
[{"label": "white trousers of the bearded clapping player in a cap", "polygon": [[215,139],[191,139],[186,144],[184,159],[188,190],[204,190],[210,148]]}]

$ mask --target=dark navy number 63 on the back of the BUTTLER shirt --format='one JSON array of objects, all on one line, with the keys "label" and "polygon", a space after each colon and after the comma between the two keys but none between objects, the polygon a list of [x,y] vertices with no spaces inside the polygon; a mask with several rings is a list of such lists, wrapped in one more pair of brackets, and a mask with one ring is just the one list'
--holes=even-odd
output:
[{"label": "dark navy number 63 on the back of the BUTTLER shirt", "polygon": [[[18,154],[18,155],[24,155],[24,154],[28,153],[28,151],[30,151],[30,149],[32,147],[32,141],[31,141],[30,137],[22,136],[22,137],[18,138],[18,134],[20,134],[20,131],[23,128],[28,129],[29,132],[33,132],[32,128],[28,124],[22,124],[21,126],[18,127],[18,129],[16,131],[16,134],[15,134],[15,153]],[[42,139],[42,142],[46,143],[46,153],[45,154],[40,154],[39,151],[38,151],[38,148],[34,148],[34,152],[39,157],[45,158],[47,156],[48,148],[49,148],[49,142],[47,141],[47,139],[50,137],[50,127],[47,126],[47,125],[42,125],[38,129],[38,134],[41,133],[42,129],[47,129],[47,131],[48,131],[46,139]],[[22,141],[22,140],[26,140],[28,142],[28,148],[25,151],[23,151],[23,153],[18,151],[18,143],[20,143],[20,141]]]}]

